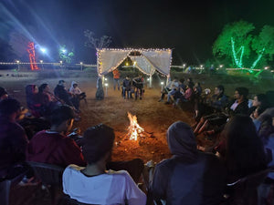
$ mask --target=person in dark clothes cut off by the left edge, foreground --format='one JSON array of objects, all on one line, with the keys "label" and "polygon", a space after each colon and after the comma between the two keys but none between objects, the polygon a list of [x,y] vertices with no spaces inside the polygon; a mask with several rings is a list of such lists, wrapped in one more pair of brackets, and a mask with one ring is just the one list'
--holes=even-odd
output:
[{"label": "person in dark clothes cut off by the left edge, foreground", "polygon": [[26,132],[17,122],[20,103],[14,98],[0,101],[0,180],[12,179],[26,170]]}]

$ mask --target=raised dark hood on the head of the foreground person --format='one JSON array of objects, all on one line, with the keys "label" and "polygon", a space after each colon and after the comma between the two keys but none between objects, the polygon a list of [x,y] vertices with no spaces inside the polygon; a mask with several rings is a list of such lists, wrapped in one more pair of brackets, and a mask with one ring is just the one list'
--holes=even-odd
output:
[{"label": "raised dark hood on the head of the foreground person", "polygon": [[168,147],[173,155],[192,157],[197,153],[197,144],[192,128],[182,121],[174,122],[166,133]]}]

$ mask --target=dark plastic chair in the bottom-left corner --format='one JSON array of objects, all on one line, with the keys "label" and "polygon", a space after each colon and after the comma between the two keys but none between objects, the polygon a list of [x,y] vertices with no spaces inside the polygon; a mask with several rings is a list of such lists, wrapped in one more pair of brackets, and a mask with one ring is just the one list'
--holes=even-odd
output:
[{"label": "dark plastic chair in the bottom-left corner", "polygon": [[0,199],[2,205],[9,204],[9,193],[10,190],[14,189],[15,186],[24,178],[26,172],[22,172],[13,179],[5,179],[0,182]]}]

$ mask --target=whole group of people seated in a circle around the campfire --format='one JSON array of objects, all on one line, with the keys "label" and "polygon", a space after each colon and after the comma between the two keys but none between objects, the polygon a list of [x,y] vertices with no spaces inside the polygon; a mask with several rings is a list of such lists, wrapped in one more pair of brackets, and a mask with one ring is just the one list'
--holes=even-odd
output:
[{"label": "whole group of people seated in a circle around the campfire", "polygon": [[[142,99],[142,76],[125,77],[122,97]],[[170,159],[155,164],[142,159],[112,161],[113,128],[98,124],[83,136],[69,137],[79,100],[86,97],[75,84],[70,89],[58,82],[54,94],[47,84],[26,87],[26,104],[33,118],[44,117],[47,128],[26,135],[21,104],[0,87],[0,180],[26,172],[26,163],[36,161],[64,169],[63,192],[71,199],[89,204],[268,204],[274,176],[274,105],[269,93],[248,101],[248,88],[236,87],[233,100],[225,87],[216,85],[215,94],[203,93],[192,78],[174,77],[163,87],[166,104],[192,103],[195,125],[175,121],[166,131]],[[142,86],[138,86],[142,85]],[[117,85],[120,89],[120,85]],[[113,87],[115,89],[115,87]],[[205,90],[206,91],[206,90]],[[208,90],[207,90],[208,92]],[[273,94],[273,93],[272,93]],[[273,99],[273,98],[272,98]],[[184,105],[183,105],[184,107]],[[44,125],[46,125],[44,124]],[[210,149],[201,149],[196,136],[218,134]],[[268,170],[268,171],[266,171]],[[264,174],[264,176],[262,176]],[[245,184],[250,176],[258,183]],[[142,182],[143,186],[138,186]],[[270,196],[270,197],[269,197]]]}]

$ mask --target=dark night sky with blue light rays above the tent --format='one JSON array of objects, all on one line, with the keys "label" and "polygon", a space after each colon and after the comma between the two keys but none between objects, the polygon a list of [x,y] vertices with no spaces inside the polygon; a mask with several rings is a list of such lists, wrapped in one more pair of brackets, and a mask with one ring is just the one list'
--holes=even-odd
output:
[{"label": "dark night sky with blue light rays above the tent", "polygon": [[[77,61],[96,63],[84,30],[111,36],[110,47],[174,48],[174,65],[201,64],[223,26],[238,20],[258,29],[274,26],[273,0],[1,0],[0,59],[10,59],[9,34],[28,32],[48,56],[59,45],[74,48]],[[48,58],[49,60],[49,58]],[[54,59],[52,59],[54,60]]]}]

